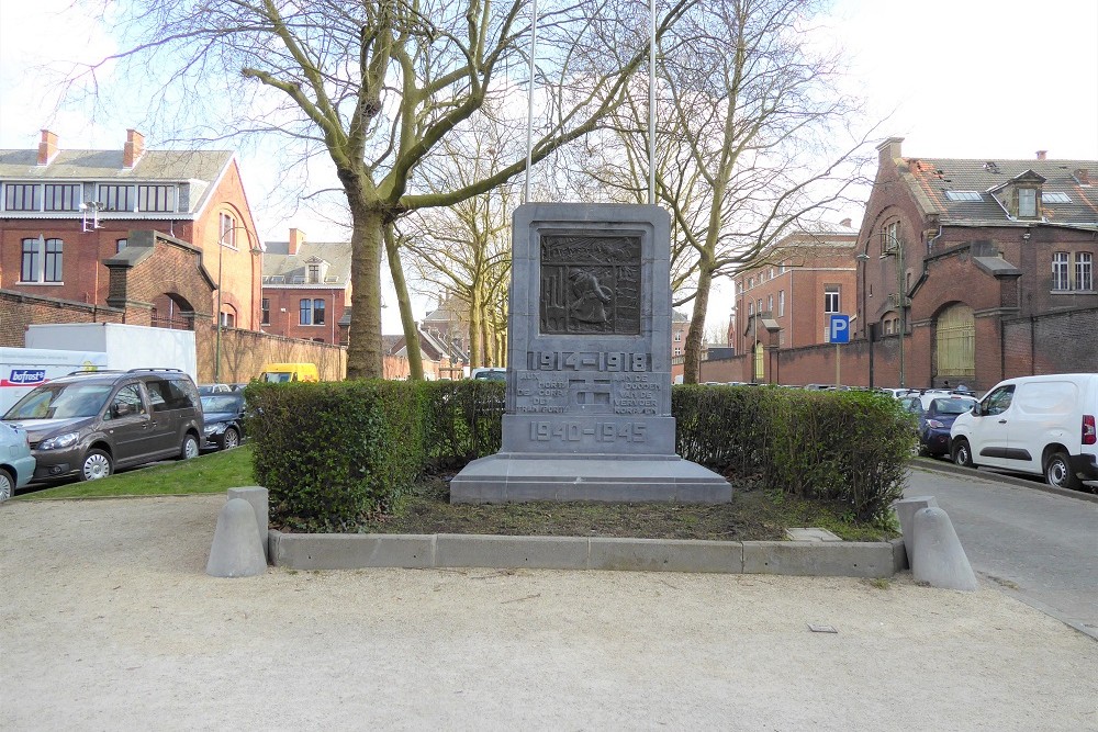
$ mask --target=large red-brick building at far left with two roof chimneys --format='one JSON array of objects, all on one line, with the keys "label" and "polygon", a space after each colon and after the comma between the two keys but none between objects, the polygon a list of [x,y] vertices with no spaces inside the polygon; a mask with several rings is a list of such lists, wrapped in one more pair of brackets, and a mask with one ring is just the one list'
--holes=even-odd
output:
[{"label": "large red-brick building at far left with two roof chimneys", "polygon": [[128,283],[128,308],[191,328],[220,304],[224,325],[259,327],[260,241],[233,153],[146,149],[134,129],[121,149],[65,150],[44,129],[36,150],[0,150],[0,289],[107,305],[108,260],[124,257],[132,230],[156,230],[198,252],[212,291],[184,294],[189,275],[160,269]]}]

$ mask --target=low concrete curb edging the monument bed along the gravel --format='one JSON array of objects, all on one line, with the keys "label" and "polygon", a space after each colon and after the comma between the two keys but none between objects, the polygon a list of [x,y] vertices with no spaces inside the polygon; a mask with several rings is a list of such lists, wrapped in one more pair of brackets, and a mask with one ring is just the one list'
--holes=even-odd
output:
[{"label": "low concrete curb edging the monument bed along the gravel", "polygon": [[270,562],[291,570],[520,567],[890,577],[903,539],[882,542],[695,541],[603,537],[269,532]]}]

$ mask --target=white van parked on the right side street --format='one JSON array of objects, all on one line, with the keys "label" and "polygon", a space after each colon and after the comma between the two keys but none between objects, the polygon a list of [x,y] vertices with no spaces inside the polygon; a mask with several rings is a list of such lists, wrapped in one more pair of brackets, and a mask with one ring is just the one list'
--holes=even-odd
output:
[{"label": "white van parked on the right side street", "polygon": [[1044,475],[1078,488],[1098,481],[1098,373],[1019,376],[996,384],[950,430],[957,465]]}]

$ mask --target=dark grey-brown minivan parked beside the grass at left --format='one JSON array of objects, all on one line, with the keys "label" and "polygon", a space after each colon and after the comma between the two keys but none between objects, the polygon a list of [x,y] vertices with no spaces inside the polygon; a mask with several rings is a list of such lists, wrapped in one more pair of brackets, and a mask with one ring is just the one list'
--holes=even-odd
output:
[{"label": "dark grey-brown minivan parked beside the grass at left", "polygon": [[178,369],[75,372],[36,386],[3,420],[26,429],[36,481],[193,458],[202,441],[199,392]]}]

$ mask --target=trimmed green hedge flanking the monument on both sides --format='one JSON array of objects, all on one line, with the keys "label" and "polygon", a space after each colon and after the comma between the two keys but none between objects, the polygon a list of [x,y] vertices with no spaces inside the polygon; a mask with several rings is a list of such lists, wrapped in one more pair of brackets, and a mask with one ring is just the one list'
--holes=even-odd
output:
[{"label": "trimmed green hedge flanking the monument on both sides", "polygon": [[[348,531],[391,511],[429,470],[498,451],[502,382],[254,384],[245,429],[271,518]],[[915,429],[875,392],[674,386],[679,454],[802,497],[840,500],[885,520],[903,493]]]}]

